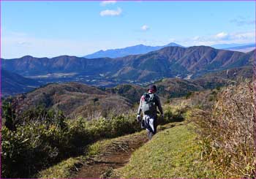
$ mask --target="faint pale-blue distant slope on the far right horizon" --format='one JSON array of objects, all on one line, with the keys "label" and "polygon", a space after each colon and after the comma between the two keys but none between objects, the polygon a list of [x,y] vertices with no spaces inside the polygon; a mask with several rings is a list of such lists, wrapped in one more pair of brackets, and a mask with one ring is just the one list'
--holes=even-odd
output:
[{"label": "faint pale-blue distant slope on the far right horizon", "polygon": [[224,49],[224,50],[234,50],[239,52],[249,52],[255,50],[255,43],[246,43],[246,44],[219,44],[219,45],[211,45],[211,47],[217,49]]}]

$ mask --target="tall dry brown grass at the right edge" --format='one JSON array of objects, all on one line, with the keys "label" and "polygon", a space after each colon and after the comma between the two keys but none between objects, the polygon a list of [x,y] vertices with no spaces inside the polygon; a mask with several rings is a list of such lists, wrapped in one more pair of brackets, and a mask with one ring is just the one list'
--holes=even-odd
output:
[{"label": "tall dry brown grass at the right edge", "polygon": [[204,159],[223,178],[255,178],[252,83],[225,87],[212,110],[195,110]]}]

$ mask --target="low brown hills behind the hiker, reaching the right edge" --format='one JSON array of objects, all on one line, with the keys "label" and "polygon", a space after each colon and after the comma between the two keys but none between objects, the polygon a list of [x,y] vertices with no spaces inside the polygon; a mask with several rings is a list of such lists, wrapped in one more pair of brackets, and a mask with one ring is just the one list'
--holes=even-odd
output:
[{"label": "low brown hills behind the hiker, reaching the right edge", "polygon": [[[171,98],[189,96],[193,91],[213,89],[240,81],[242,78],[252,79],[252,66],[244,66],[211,72],[196,79],[183,80],[181,78],[164,78],[156,81],[157,94],[162,103]],[[86,118],[97,118],[100,115],[123,113],[138,104],[140,96],[147,91],[147,86],[122,84],[112,88],[96,88],[83,83],[53,83],[37,88],[22,95],[21,108],[44,105],[64,112],[65,115],[81,115]],[[19,98],[15,96],[14,98]]]}]

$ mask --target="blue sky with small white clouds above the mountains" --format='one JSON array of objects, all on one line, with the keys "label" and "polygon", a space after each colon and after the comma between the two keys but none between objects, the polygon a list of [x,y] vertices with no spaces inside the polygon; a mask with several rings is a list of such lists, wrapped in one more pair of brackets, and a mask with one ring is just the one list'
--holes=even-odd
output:
[{"label": "blue sky with small white clouds above the mountains", "polygon": [[1,58],[255,42],[255,1],[1,1]]}]

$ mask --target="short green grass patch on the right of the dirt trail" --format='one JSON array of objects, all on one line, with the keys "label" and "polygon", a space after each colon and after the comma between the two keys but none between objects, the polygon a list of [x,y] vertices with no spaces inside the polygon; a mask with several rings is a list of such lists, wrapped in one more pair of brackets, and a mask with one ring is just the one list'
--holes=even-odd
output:
[{"label": "short green grass patch on the right of the dirt trail", "polygon": [[150,142],[139,148],[125,167],[114,170],[120,178],[213,178],[200,160],[191,124],[176,126],[159,132]]}]

